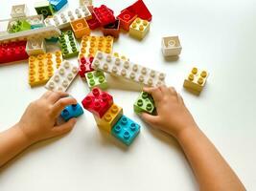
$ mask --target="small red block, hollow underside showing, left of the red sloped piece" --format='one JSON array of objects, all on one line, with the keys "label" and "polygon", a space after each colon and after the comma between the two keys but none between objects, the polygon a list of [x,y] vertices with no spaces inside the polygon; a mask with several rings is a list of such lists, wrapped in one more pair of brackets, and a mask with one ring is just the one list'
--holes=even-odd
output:
[{"label": "small red block, hollow underside showing, left of the red sloped piece", "polygon": [[129,30],[130,24],[136,19],[137,15],[128,10],[122,11],[117,18],[120,20],[120,27],[127,31]]}]

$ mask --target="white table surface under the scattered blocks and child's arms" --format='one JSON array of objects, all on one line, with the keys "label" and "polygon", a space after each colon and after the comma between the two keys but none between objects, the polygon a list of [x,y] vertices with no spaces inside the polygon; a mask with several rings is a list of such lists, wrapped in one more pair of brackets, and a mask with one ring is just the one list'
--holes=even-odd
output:
[{"label": "white table surface under the scattered blocks and child's arms", "polygon": [[[35,14],[33,2],[1,1],[0,18],[9,18],[12,5],[18,3],[27,3]],[[95,6],[109,6],[117,15],[133,0],[95,2]],[[166,72],[168,85],[184,97],[202,131],[247,190],[256,190],[255,1],[145,2],[152,13],[151,32],[142,42],[122,33],[114,52]],[[69,1],[71,8],[78,5],[79,1]],[[165,60],[161,37],[175,34],[183,47],[181,56],[177,61]],[[72,60],[76,62],[76,58]],[[194,66],[210,73],[200,96],[182,88],[184,77]],[[27,62],[0,67],[1,131],[12,126],[29,102],[45,91],[43,87],[31,89],[27,78]],[[0,169],[0,190],[198,190],[176,141],[133,114],[138,92],[122,83],[111,83],[108,91],[125,115],[142,125],[128,149],[99,131],[92,115],[85,112],[70,134],[37,143]],[[68,92],[81,101],[89,91],[78,77]]]}]

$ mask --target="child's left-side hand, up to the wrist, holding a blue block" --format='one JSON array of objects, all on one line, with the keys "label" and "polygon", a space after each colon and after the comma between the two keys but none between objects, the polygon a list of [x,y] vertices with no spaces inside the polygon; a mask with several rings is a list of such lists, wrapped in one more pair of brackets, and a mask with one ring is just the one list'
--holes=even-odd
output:
[{"label": "child's left-side hand, up to the wrist, holding a blue block", "polygon": [[67,105],[76,103],[77,100],[66,93],[46,92],[28,106],[17,126],[31,143],[60,136],[72,130],[76,119],[58,125],[57,118]]}]

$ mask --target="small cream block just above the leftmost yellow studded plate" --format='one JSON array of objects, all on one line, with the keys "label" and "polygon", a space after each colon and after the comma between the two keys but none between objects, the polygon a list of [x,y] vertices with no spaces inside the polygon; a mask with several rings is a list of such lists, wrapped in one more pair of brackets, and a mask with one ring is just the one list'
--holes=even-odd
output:
[{"label": "small cream block just above the leftmost yellow studded plate", "polygon": [[26,52],[29,55],[46,53],[46,45],[44,39],[32,39],[27,41]]}]

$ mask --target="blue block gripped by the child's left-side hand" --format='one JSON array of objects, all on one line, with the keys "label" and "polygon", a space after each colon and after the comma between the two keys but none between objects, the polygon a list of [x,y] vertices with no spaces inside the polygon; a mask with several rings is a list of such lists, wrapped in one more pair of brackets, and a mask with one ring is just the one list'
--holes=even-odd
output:
[{"label": "blue block gripped by the child's left-side hand", "polygon": [[83,114],[83,110],[80,104],[67,106],[60,114],[65,121],[73,117],[80,117]]}]

